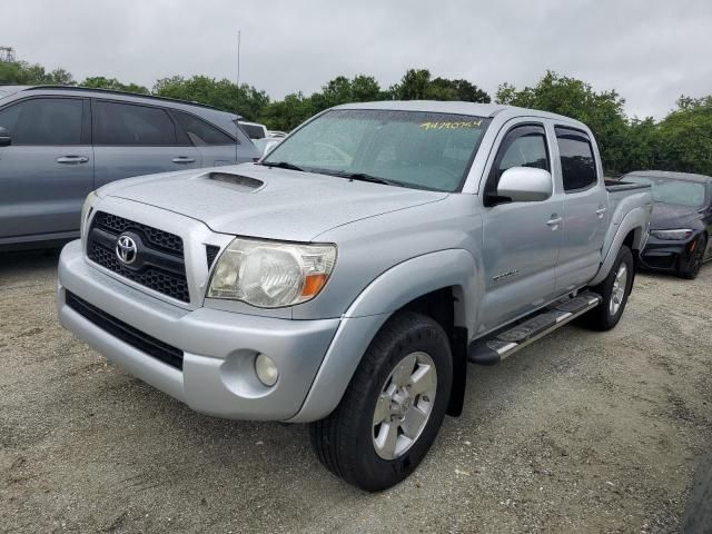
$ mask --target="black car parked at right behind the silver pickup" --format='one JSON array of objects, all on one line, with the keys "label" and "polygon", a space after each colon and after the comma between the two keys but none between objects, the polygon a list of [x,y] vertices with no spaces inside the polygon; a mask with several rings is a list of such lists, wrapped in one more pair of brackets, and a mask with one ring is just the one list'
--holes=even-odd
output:
[{"label": "black car parked at right behind the silver pickup", "polygon": [[641,265],[695,278],[702,264],[712,259],[712,177],[639,170],[622,179],[653,189],[650,239]]}]

